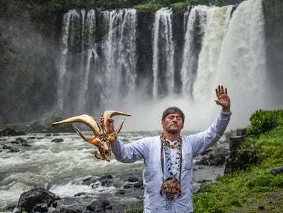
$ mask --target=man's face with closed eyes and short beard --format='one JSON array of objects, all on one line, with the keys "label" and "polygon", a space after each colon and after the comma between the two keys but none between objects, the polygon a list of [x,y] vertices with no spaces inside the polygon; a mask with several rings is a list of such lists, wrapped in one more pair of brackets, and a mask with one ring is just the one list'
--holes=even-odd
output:
[{"label": "man's face with closed eyes and short beard", "polygon": [[170,134],[176,134],[184,127],[183,119],[178,113],[168,114],[164,121],[161,121],[161,125],[163,129]]}]

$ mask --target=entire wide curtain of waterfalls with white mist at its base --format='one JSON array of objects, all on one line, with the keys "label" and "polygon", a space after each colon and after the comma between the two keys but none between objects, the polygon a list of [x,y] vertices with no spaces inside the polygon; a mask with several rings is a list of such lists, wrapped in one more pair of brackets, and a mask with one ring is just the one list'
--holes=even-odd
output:
[{"label": "entire wide curtain of waterfalls with white mist at its base", "polygon": [[[173,10],[161,8],[148,22],[152,40],[144,39],[137,14],[71,10],[64,16],[58,94],[66,116],[123,110],[133,114],[124,130],[152,130],[160,129],[163,110],[177,105],[194,121],[185,129],[202,130],[219,111],[218,84],[228,87],[232,99],[230,128],[248,125],[255,110],[277,107],[265,104],[270,95],[262,1],[243,1],[237,8],[190,6],[183,10],[183,23]],[[180,32],[182,40],[176,36]],[[152,55],[141,57],[137,44],[140,49],[146,42]],[[146,70],[139,67],[140,58],[148,59],[142,62],[150,64]]]}]

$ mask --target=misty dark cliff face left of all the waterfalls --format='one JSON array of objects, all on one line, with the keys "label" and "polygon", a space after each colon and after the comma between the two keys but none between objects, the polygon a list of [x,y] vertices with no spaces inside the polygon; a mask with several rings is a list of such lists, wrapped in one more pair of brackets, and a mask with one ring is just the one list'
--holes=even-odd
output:
[{"label": "misty dark cliff face left of all the waterfalls", "polygon": [[12,1],[1,11],[0,126],[37,118],[57,100],[57,42],[32,20],[35,6]]}]

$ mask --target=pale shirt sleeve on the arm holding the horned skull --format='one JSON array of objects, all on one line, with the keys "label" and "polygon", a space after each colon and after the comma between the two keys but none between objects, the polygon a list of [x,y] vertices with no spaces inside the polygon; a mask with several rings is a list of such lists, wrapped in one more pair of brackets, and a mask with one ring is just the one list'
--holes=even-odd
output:
[{"label": "pale shirt sleeve on the arm holding the horned skull", "polygon": [[140,139],[129,144],[124,144],[118,137],[112,143],[112,152],[116,160],[124,163],[132,163],[144,158],[146,153],[146,143]]}]

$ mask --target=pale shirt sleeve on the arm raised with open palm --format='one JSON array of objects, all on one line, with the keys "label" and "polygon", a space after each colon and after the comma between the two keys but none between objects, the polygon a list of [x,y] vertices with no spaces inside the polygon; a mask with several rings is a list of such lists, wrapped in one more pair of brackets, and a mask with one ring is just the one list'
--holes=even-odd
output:
[{"label": "pale shirt sleeve on the arm raised with open palm", "polygon": [[231,115],[232,112],[223,112],[221,110],[215,121],[206,131],[191,136],[193,157],[206,151],[206,149],[214,145],[223,136]]}]

